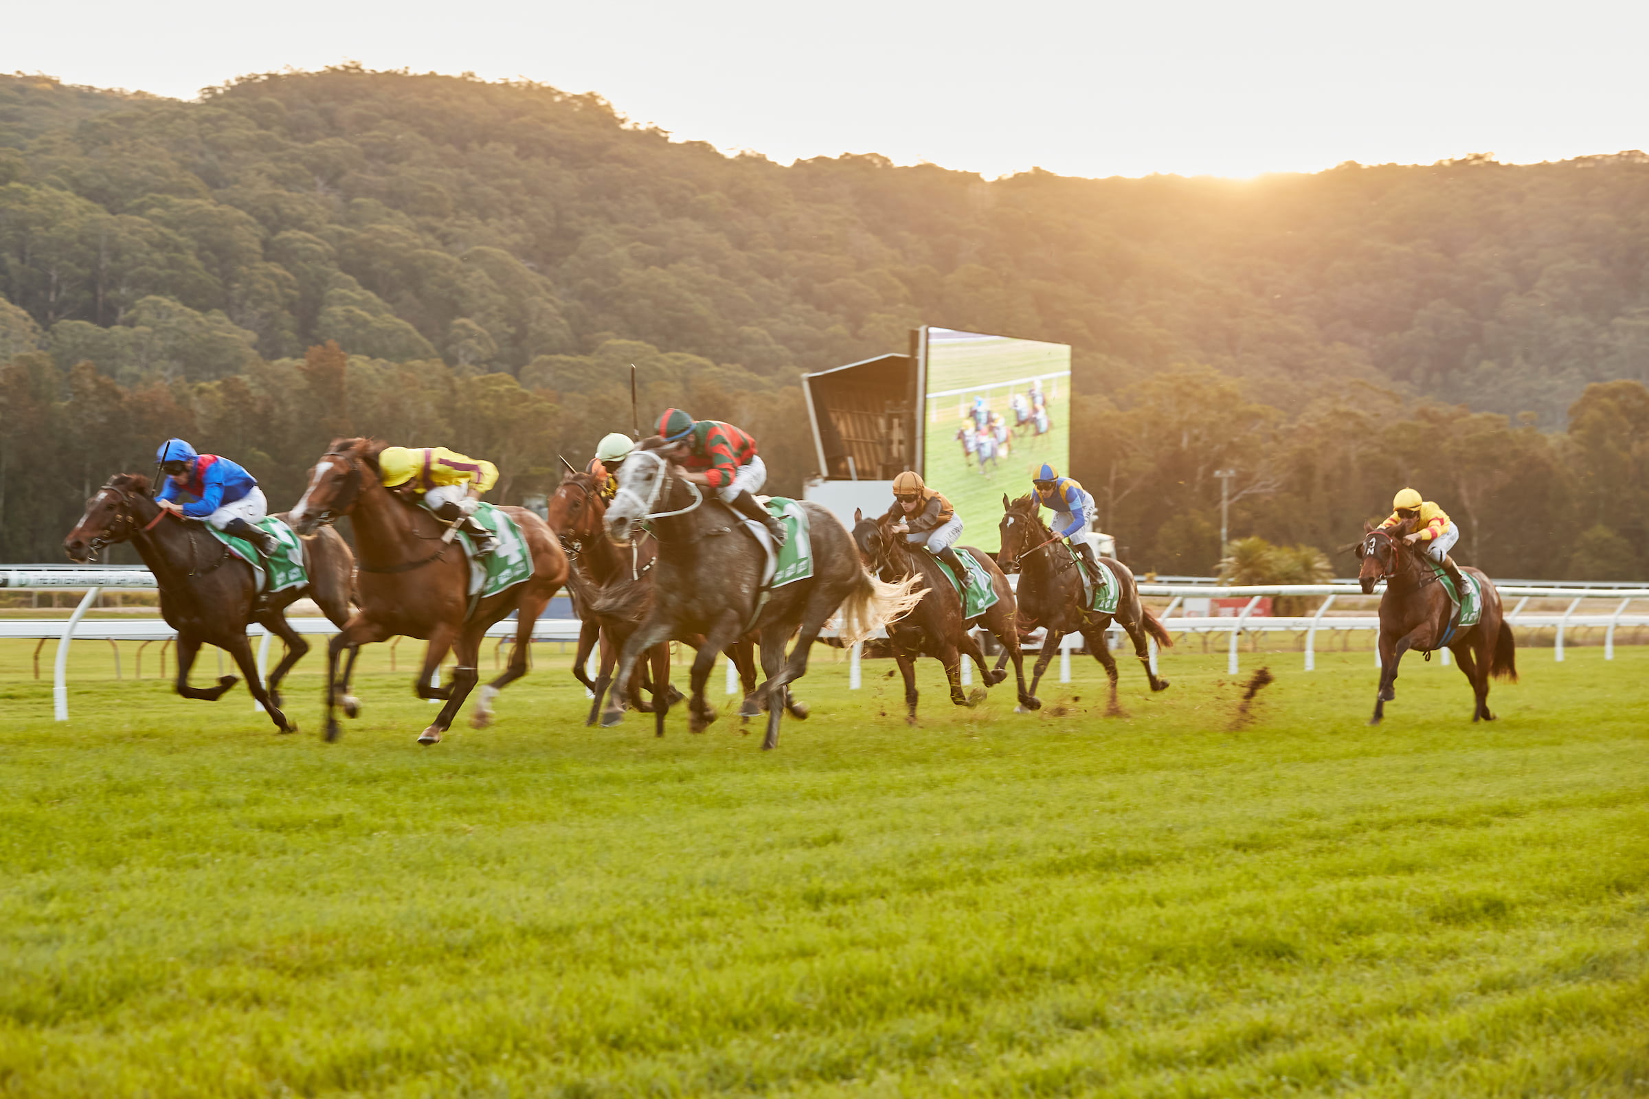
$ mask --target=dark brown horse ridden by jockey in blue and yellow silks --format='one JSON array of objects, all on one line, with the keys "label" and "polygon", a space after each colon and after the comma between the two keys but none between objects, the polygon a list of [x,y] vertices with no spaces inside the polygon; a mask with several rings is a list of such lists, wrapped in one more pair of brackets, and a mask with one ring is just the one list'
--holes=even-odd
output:
[{"label": "dark brown horse ridden by jockey in blue and yellow silks", "polygon": [[[1105,667],[1110,679],[1110,702],[1105,707],[1106,717],[1120,717],[1121,705],[1116,702],[1116,661],[1111,659],[1105,631],[1116,621],[1135,643],[1135,656],[1144,669],[1151,690],[1167,690],[1167,680],[1151,671],[1149,639],[1167,649],[1174,639],[1167,629],[1151,613],[1151,608],[1139,601],[1139,585],[1135,582],[1128,565],[1113,557],[1100,557],[1116,575],[1121,592],[1116,598],[1116,615],[1102,615],[1087,610],[1083,601],[1082,577],[1077,573],[1077,562],[1064,549],[1064,540],[1054,537],[1047,524],[1042,522],[1042,511],[1036,496],[1021,496],[1009,501],[1003,494],[1003,549],[998,560],[1014,562],[1019,567],[1019,633],[1027,634],[1037,626],[1047,633],[1042,638],[1042,652],[1037,654],[1036,667],[1031,672],[1031,694],[1036,694],[1042,682],[1042,672],[1059,651],[1059,643],[1067,634],[1082,634],[1088,644],[1088,652]],[[1001,661],[998,661],[1001,666]]]}]

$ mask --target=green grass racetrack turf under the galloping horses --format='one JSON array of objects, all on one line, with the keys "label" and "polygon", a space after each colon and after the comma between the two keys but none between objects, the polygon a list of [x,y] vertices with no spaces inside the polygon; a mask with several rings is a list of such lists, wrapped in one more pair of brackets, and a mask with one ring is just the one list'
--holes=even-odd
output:
[{"label": "green grass racetrack turf under the galloping horses", "polygon": [[409,646],[336,745],[315,657],[300,737],[102,643],[54,723],[31,649],[0,1096],[1649,1094],[1649,649],[1520,651],[1476,727],[1413,657],[1365,727],[1367,651],[1245,652],[1245,725],[1222,656],[1116,720],[928,662],[914,730],[821,651],[773,753],[587,730],[552,652],[419,748]]}]

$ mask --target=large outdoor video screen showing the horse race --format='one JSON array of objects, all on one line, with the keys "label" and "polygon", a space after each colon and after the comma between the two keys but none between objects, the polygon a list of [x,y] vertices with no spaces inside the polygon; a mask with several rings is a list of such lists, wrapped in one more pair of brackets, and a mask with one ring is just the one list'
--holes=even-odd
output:
[{"label": "large outdoor video screen showing the horse race", "polygon": [[928,328],[925,364],[922,476],[965,544],[994,547],[1003,493],[1029,493],[1032,465],[1069,473],[1070,346]]}]

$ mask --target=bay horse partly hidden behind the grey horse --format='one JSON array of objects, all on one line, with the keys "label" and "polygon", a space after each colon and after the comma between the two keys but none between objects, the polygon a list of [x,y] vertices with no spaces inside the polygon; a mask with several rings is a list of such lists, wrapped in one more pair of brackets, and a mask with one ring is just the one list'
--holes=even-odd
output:
[{"label": "bay horse partly hidden behind the grey horse", "polygon": [[[562,549],[572,568],[567,583],[579,596],[579,652],[572,661],[572,677],[577,679],[594,695],[590,715],[585,725],[595,725],[600,717],[602,700],[612,684],[613,664],[618,661],[618,649],[646,615],[646,605],[653,596],[653,559],[658,555],[658,544],[653,539],[638,539],[630,544],[630,552],[622,554],[607,539],[604,521],[607,517],[607,501],[597,489],[597,479],[590,473],[566,473],[561,484],[549,498],[546,522],[561,539]],[[592,680],[584,671],[590,651],[600,643],[602,662],[597,677]],[[739,669],[744,684],[745,717],[759,717],[760,709],[749,699],[755,689],[755,646],[747,639],[739,639],[727,649],[729,659]],[[669,643],[663,641],[648,652],[651,680],[632,684],[630,694],[637,697],[637,710],[656,715],[656,735],[665,735],[665,712],[660,707],[658,694],[669,692],[669,704],[679,702],[681,694],[669,685]],[[640,679],[646,667],[638,666]],[[640,690],[653,694],[655,704],[643,705]]]}]

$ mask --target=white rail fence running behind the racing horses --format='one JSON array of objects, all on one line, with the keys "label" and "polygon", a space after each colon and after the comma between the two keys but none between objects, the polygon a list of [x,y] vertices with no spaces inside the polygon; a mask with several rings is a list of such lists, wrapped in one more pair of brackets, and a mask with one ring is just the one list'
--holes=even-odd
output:
[{"label": "white rail fence running behind the racing horses", "polygon": [[[1009,577],[1017,580],[1017,577]],[[64,565],[23,565],[13,568],[0,567],[0,588],[13,590],[86,590],[79,605],[69,615],[68,620],[3,620],[0,618],[0,639],[40,639],[40,641],[58,641],[56,662],[53,669],[53,712],[54,717],[63,722],[68,720],[69,704],[68,704],[68,656],[69,644],[76,638],[92,639],[92,641],[167,641],[175,636],[173,629],[167,626],[165,621],[158,618],[142,618],[142,620],[84,620],[86,611],[96,601],[99,592],[104,588],[155,588],[155,578],[147,568],[140,567],[109,567],[109,565],[86,565],[86,567],[64,567]],[[1633,601],[1644,600],[1649,601],[1649,587],[1616,587],[1616,588],[1581,588],[1571,585],[1496,585],[1501,598],[1506,601],[1515,600],[1512,608],[1507,611],[1507,621],[1514,628],[1522,629],[1555,629],[1553,643],[1553,659],[1563,659],[1563,639],[1570,629],[1593,626],[1604,631],[1603,641],[1603,659],[1614,659],[1614,633],[1621,626],[1649,626],[1649,613],[1628,613]],[[1139,593],[1149,596],[1167,596],[1169,605],[1159,615],[1163,626],[1174,634],[1225,634],[1227,636],[1227,672],[1235,676],[1238,672],[1238,643],[1243,634],[1255,633],[1298,633],[1303,634],[1303,656],[1304,671],[1313,671],[1316,667],[1316,643],[1322,631],[1379,631],[1380,620],[1377,615],[1337,615],[1331,616],[1329,610],[1334,606],[1336,600],[1342,596],[1362,595],[1362,588],[1355,583],[1318,583],[1318,585],[1245,585],[1245,587],[1220,587],[1214,583],[1139,583]],[[1322,596],[1322,605],[1309,616],[1296,618],[1273,618],[1273,616],[1255,616],[1253,611],[1260,606],[1260,600],[1266,596]],[[1186,598],[1245,598],[1247,603],[1232,616],[1205,618],[1205,616],[1187,616],[1176,615]],[[1530,600],[1567,600],[1567,606],[1562,611],[1525,611],[1524,608]],[[1600,613],[1576,615],[1585,600],[1601,600],[1606,610]],[[292,618],[292,628],[302,634],[333,634],[336,626],[333,626],[325,618]],[[486,631],[490,638],[510,638],[514,636],[516,623],[501,621]],[[1121,634],[1118,626],[1111,626],[1113,636]],[[1041,634],[1041,631],[1037,631]],[[1037,634],[1032,634],[1036,638]],[[262,626],[247,628],[249,638],[259,638],[257,646],[257,667],[259,672],[265,669],[269,656],[270,636]],[[579,621],[576,618],[541,618],[533,628],[533,641],[577,641]],[[1073,649],[1082,646],[1080,636],[1069,636],[1060,643],[1059,654],[1059,677],[1060,682],[1070,682],[1070,654]],[[1032,646],[1034,648],[1034,646]],[[119,649],[115,649],[117,669],[119,669]],[[849,654],[849,672],[848,685],[853,689],[861,687],[862,646],[853,646]],[[1156,667],[1156,643],[1151,643],[1151,667]],[[1448,662],[1448,651],[1445,649],[1443,662]],[[594,659],[594,657],[592,657]],[[1379,666],[1380,656],[1379,648],[1375,648],[1375,666]],[[961,677],[965,684],[973,682],[970,661],[961,662]],[[727,666],[727,694],[737,690],[737,676],[732,664]]]}]

